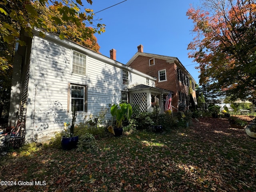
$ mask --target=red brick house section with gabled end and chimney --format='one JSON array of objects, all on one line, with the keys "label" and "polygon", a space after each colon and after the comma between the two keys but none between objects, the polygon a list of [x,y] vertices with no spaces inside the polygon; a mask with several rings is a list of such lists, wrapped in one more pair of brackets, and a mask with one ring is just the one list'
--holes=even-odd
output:
[{"label": "red brick house section with gabled end and chimney", "polygon": [[[140,72],[156,77],[156,87],[170,90],[172,94],[172,110],[178,112],[178,103],[184,102],[192,106],[190,94],[196,103],[196,81],[176,57],[162,56],[143,52],[143,46],[138,46],[138,52],[126,64]],[[160,72],[165,73],[165,79],[160,80]]]}]

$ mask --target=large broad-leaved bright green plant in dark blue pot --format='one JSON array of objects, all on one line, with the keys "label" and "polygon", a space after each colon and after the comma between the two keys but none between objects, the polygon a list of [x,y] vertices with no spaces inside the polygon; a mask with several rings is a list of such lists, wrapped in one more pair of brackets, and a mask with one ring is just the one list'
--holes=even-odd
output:
[{"label": "large broad-leaved bright green plant in dark blue pot", "polygon": [[113,104],[110,108],[113,118],[116,118],[116,126],[114,127],[114,135],[121,136],[123,134],[122,124],[125,118],[127,120],[132,116],[132,106],[128,103]]}]

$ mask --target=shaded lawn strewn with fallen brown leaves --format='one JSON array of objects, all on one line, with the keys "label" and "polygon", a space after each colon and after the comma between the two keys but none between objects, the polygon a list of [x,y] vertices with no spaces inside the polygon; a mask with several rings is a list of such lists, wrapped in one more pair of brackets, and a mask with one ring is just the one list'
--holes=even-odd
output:
[{"label": "shaded lawn strewn with fallen brown leaves", "polygon": [[256,187],[256,140],[221,118],[201,118],[170,134],[103,138],[90,152],[45,149],[2,162],[1,181],[16,181],[0,186],[5,191],[253,192]]}]

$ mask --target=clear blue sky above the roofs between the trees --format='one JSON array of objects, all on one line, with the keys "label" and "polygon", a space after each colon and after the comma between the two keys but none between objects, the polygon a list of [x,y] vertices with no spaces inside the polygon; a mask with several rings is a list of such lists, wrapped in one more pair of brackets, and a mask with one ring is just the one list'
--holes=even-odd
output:
[{"label": "clear blue sky above the roofs between the trees", "polygon": [[[90,6],[83,0],[94,13],[122,1],[93,0]],[[126,0],[96,13],[94,18],[106,24],[106,32],[96,34],[100,53],[109,57],[114,48],[116,60],[126,64],[142,44],[146,53],[177,57],[198,83],[198,64],[188,58],[187,50],[193,39],[193,23],[186,16],[190,4],[196,8],[200,0]]]}]

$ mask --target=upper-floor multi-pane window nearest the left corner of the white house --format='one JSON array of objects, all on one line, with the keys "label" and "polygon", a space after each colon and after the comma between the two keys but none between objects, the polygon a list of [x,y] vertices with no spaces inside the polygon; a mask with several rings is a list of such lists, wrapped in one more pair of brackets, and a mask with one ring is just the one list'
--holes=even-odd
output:
[{"label": "upper-floor multi-pane window nearest the left corner of the white house", "polygon": [[86,55],[73,51],[72,72],[86,75]]}]

